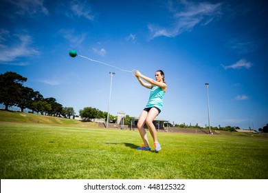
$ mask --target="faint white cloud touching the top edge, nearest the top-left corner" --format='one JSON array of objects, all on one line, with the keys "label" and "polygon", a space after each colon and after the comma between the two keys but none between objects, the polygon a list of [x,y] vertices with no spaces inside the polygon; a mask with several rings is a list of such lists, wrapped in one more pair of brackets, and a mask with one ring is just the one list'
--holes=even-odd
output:
[{"label": "faint white cloud touching the top edge, nearest the top-left corner", "polygon": [[10,0],[18,8],[16,14],[39,14],[40,12],[49,14],[47,8],[43,6],[43,0]]}]

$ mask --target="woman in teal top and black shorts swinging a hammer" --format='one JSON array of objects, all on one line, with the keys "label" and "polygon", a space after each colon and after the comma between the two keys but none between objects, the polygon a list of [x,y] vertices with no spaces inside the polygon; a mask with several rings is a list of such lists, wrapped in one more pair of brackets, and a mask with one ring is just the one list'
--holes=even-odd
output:
[{"label": "woman in teal top and black shorts swinging a hammer", "polygon": [[[135,77],[137,77],[137,80],[141,85],[143,85],[145,88],[150,89],[150,97],[148,99],[148,103],[144,110],[142,110],[142,113],[139,116],[139,121],[137,122],[139,134],[140,136],[142,136],[142,140],[144,141],[144,145],[137,148],[137,150],[150,151],[147,134],[144,130],[144,124],[146,123],[150,131],[150,135],[153,137],[155,152],[158,152],[159,150],[161,150],[161,146],[157,141],[157,132],[155,130],[153,120],[161,112],[163,97],[166,94],[165,75],[162,70],[157,70],[155,72],[154,80],[144,76],[139,71],[136,71]],[[144,82],[143,80],[146,82]]]}]

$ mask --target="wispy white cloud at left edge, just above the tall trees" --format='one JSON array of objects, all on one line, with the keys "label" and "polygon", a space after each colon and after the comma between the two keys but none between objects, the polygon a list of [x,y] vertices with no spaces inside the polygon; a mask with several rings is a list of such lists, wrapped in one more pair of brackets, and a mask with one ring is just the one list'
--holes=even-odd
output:
[{"label": "wispy white cloud at left edge, just above the tall trees", "polygon": [[[14,43],[14,40],[17,42]],[[11,42],[11,43],[10,43]],[[32,48],[32,37],[27,34],[10,34],[7,30],[0,31],[0,63],[9,65],[28,65],[18,61],[21,57],[32,57],[39,52]]]}]

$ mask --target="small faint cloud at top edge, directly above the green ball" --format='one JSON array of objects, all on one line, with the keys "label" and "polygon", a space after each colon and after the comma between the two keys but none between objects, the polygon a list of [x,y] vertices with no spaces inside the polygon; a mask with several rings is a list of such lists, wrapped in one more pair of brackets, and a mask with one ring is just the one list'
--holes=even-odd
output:
[{"label": "small faint cloud at top edge, directly above the green ball", "polygon": [[85,17],[91,21],[94,20],[94,16],[91,14],[91,8],[87,1],[71,1],[71,11],[78,17]]}]

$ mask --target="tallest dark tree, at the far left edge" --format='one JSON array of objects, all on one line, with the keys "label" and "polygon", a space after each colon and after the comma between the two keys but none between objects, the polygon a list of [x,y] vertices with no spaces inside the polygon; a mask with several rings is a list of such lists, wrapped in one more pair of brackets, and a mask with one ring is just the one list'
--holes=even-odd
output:
[{"label": "tallest dark tree, at the far left edge", "polygon": [[16,72],[0,74],[0,103],[5,105],[5,110],[19,102],[23,90],[22,83],[25,81],[27,78],[16,74]]}]

